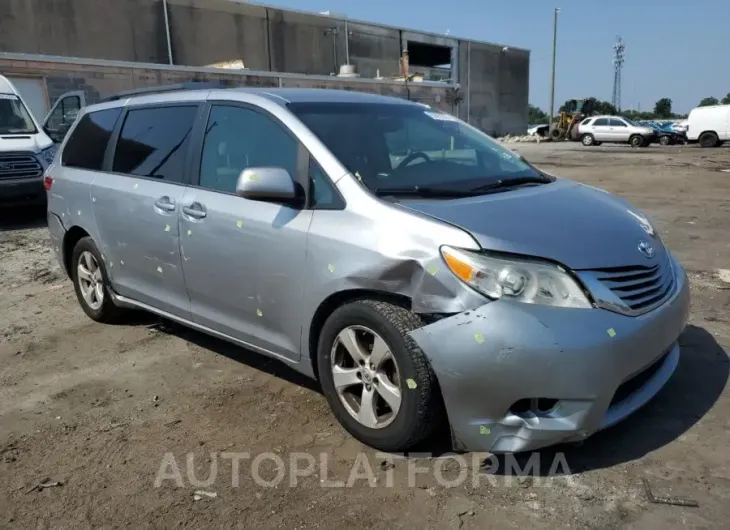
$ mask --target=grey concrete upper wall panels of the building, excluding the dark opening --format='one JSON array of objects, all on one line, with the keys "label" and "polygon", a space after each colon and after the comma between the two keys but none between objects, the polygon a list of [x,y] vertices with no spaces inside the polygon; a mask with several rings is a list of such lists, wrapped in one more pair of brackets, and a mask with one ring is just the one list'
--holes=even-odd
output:
[{"label": "grey concrete upper wall panels of the building, excluding the dark opening", "polygon": [[[230,0],[168,0],[168,10],[175,64],[327,76],[345,63],[342,20]],[[398,75],[408,41],[455,46],[460,117],[490,134],[524,132],[529,52],[471,43],[469,53],[467,41],[361,22],[348,30],[350,62],[369,78]],[[162,0],[0,0],[0,52],[166,64]]]}]

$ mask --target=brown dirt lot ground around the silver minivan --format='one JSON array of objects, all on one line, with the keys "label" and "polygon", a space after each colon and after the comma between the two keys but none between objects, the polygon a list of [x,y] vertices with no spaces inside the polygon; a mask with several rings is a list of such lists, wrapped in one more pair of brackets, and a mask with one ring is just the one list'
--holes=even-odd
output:
[{"label": "brown dirt lot ground around the silver minivan", "polygon": [[[42,212],[6,215],[0,527],[725,527],[730,148],[511,147],[644,209],[689,271],[679,368],[635,416],[583,445],[513,460],[524,471],[540,459],[527,478],[490,455],[391,463],[335,423],[316,384],[276,361],[151,316],[93,323],[53,259]],[[555,462],[569,473],[551,476]],[[650,503],[642,479],[699,507]],[[201,489],[216,496],[196,500]]]}]

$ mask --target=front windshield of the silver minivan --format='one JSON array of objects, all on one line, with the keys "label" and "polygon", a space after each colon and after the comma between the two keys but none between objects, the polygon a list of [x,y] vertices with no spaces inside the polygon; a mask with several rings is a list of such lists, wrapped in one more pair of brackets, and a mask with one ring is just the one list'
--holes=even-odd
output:
[{"label": "front windshield of the silver minivan", "polygon": [[294,103],[289,108],[372,191],[468,192],[542,175],[449,114],[392,103]]}]

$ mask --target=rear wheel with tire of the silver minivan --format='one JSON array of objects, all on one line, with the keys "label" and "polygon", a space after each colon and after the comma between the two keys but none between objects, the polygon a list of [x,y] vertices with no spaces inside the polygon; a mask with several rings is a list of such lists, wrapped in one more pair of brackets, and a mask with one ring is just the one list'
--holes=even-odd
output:
[{"label": "rear wheel with tire of the silver minivan", "polygon": [[126,311],[112,301],[109,275],[91,237],[83,237],[76,243],[70,273],[79,305],[90,319],[109,324],[125,315]]}]

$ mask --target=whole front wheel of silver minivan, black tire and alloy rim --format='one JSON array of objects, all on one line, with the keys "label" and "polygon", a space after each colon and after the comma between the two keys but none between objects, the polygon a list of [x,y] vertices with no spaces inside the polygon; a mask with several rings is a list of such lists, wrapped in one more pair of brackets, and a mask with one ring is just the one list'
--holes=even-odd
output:
[{"label": "whole front wheel of silver minivan, black tire and alloy rim", "polygon": [[337,420],[381,451],[403,452],[444,419],[438,383],[408,335],[423,326],[411,311],[360,300],[336,309],[320,334],[320,382]]}]

